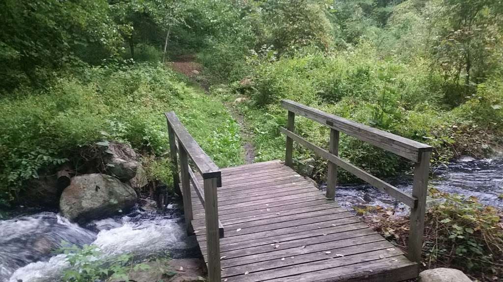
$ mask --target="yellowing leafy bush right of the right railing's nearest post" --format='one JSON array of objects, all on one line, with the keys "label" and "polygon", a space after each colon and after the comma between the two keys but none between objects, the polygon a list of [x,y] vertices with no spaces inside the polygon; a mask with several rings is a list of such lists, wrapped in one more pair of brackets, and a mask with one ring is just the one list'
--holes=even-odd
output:
[{"label": "yellowing leafy bush right of the right railing's nearest post", "polygon": [[432,263],[455,265],[471,273],[503,274],[496,267],[503,261],[501,212],[474,197],[464,199],[436,190],[433,197],[442,202],[427,216],[428,225],[435,226],[434,237],[426,241]]}]

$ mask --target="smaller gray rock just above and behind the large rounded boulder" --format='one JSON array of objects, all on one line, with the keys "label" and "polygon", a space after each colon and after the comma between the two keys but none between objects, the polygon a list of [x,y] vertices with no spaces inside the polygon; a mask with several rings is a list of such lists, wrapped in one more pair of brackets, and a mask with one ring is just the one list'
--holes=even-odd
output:
[{"label": "smaller gray rock just above and behind the large rounded boulder", "polygon": [[128,181],[136,176],[140,163],[129,145],[110,142],[105,153],[104,162],[111,175],[122,181]]}]

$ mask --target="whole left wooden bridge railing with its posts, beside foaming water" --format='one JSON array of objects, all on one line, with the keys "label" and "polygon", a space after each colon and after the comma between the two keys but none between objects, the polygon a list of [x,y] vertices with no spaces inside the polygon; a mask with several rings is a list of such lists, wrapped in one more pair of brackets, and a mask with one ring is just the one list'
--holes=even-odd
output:
[{"label": "whole left wooden bridge railing with its posts, beside foaming water", "polygon": [[[175,185],[182,184],[185,222],[187,232],[192,233],[191,222],[192,196],[191,183],[204,208],[206,219],[206,245],[208,252],[208,281],[220,281],[220,238],[223,237],[223,226],[218,220],[217,187],[222,186],[220,169],[199,147],[189,134],[175,112],[165,113],[167,131],[170,137],[173,181]],[[180,157],[180,177],[178,170],[178,156]],[[195,173],[189,166],[189,158],[194,167],[203,177],[203,189],[196,179]]]}]

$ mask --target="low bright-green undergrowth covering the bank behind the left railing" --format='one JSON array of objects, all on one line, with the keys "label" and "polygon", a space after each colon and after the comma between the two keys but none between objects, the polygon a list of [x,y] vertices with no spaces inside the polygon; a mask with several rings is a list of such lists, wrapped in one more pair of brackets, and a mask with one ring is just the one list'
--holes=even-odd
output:
[{"label": "low bright-green undergrowth covering the bank behind the left railing", "polygon": [[170,110],[219,166],[242,162],[239,127],[229,113],[161,66],[83,68],[80,77],[60,78],[47,90],[17,89],[0,100],[0,198],[12,200],[41,169],[65,161],[78,167],[80,152],[100,140],[153,155],[169,151],[163,113]]}]

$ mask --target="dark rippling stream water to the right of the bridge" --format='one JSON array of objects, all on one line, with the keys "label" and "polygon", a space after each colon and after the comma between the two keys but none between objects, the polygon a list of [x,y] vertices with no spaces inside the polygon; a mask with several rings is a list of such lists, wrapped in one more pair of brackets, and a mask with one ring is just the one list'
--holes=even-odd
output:
[{"label": "dark rippling stream water to the right of the bridge", "polygon": [[[412,192],[410,177],[388,179],[387,182],[408,193]],[[474,160],[464,157],[449,166],[435,169],[430,185],[443,192],[475,196],[481,203],[503,208],[503,159]],[[321,186],[325,189],[326,186]],[[344,207],[381,206],[394,208],[397,214],[408,213],[408,207],[368,184],[342,185],[337,188],[337,201]]]}]

